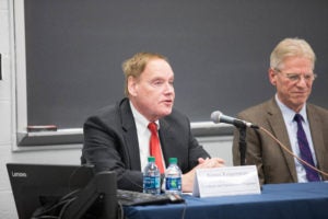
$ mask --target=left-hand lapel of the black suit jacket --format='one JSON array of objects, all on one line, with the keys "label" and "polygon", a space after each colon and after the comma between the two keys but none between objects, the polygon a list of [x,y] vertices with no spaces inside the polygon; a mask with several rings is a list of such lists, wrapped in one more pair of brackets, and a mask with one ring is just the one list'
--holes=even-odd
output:
[{"label": "left-hand lapel of the black suit jacket", "polygon": [[127,159],[127,164],[129,165],[128,168],[130,170],[140,171],[141,163],[137,128],[128,99],[125,99],[120,103],[119,111],[121,116],[122,136],[125,145],[127,146],[125,157]]}]

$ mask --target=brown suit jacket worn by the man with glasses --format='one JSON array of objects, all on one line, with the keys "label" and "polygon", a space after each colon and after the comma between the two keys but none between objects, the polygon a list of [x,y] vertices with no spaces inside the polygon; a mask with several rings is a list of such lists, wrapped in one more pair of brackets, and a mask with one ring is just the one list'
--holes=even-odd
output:
[{"label": "brown suit jacket worn by the man with glasses", "polygon": [[[318,168],[328,171],[328,111],[313,104],[306,104],[311,134]],[[238,117],[269,130],[290,150],[291,143],[282,113],[273,99],[250,107],[238,114]],[[238,137],[235,130],[233,143],[233,162],[239,165]],[[256,164],[261,184],[296,183],[297,175],[294,158],[285,152],[272,138],[261,130],[247,128],[246,164]],[[324,176],[324,180],[328,180]]]}]

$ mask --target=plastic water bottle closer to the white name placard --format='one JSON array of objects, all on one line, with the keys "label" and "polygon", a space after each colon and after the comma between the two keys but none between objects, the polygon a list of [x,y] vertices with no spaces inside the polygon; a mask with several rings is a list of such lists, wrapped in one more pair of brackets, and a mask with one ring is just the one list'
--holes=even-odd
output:
[{"label": "plastic water bottle closer to the white name placard", "polygon": [[169,165],[165,171],[165,193],[181,193],[181,171],[177,165],[177,158],[168,159]]}]

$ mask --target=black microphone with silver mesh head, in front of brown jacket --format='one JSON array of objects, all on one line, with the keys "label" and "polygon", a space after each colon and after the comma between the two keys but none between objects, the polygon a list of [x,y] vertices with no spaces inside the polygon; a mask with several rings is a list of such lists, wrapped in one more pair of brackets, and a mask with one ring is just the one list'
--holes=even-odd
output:
[{"label": "black microphone with silver mesh head, in front of brown jacket", "polygon": [[231,124],[236,126],[237,128],[243,128],[243,127],[249,127],[249,128],[255,128],[258,129],[259,127],[257,125],[254,125],[249,122],[246,120],[242,120],[238,118],[234,118],[231,116],[226,116],[223,113],[221,113],[220,111],[214,111],[211,114],[211,119],[213,123],[225,123],[225,124]]}]

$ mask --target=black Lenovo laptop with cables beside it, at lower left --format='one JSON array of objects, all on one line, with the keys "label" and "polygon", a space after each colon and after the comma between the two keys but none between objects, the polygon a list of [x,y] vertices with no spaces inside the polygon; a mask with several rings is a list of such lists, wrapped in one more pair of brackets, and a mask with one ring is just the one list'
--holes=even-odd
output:
[{"label": "black Lenovo laptop with cables beside it, at lower left", "polygon": [[85,209],[105,200],[116,210],[116,175],[112,172],[99,175],[92,166],[26,163],[8,163],[7,170],[20,219],[57,216],[63,209],[68,211],[63,218],[83,218]]}]

